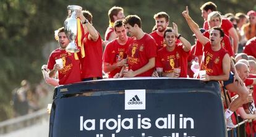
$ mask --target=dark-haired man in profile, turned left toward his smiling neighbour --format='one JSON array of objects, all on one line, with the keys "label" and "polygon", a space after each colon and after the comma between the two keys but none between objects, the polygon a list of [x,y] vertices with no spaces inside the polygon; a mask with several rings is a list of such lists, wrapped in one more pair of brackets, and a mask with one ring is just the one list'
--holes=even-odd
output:
[{"label": "dark-haired man in profile, turned left toward his smiling neighbour", "polygon": [[137,15],[127,16],[124,24],[134,40],[127,51],[129,70],[124,70],[124,77],[150,77],[155,67],[155,39],[143,32],[142,21]]}]

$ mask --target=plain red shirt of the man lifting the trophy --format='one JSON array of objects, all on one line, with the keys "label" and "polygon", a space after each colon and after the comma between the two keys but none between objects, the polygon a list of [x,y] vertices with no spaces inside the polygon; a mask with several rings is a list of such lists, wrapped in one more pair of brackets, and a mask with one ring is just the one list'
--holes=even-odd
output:
[{"label": "plain red shirt of the man lifting the trophy", "polygon": [[85,57],[81,59],[81,70],[83,78],[102,78],[102,42],[100,34],[97,41],[88,39],[89,33],[85,34],[83,45],[85,46]]}]

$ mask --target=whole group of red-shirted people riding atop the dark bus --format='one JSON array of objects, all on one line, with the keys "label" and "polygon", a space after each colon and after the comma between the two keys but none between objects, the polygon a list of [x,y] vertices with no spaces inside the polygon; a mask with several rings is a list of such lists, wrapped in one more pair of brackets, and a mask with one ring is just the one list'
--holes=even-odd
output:
[{"label": "whole group of red-shirted people riding atop the dark bus", "polygon": [[[103,75],[199,78],[198,72],[205,70],[200,80],[220,81],[234,96],[225,110],[227,127],[234,127],[231,117],[236,111],[242,118],[256,118],[255,110],[248,112],[242,107],[256,99],[256,88],[250,88],[256,84],[256,12],[221,15],[213,2],[206,2],[200,10],[205,20],[203,28],[190,17],[189,7],[182,12],[194,33],[194,44],[179,33],[176,23],[169,27],[166,12],[153,15],[155,26],[147,34],[138,15],[125,17],[124,9],[114,6],[108,12],[109,27],[103,40],[92,25],[92,14],[76,10],[82,26],[80,52],[66,51],[69,38],[64,28],[59,28],[60,47],[51,53],[48,65],[42,66],[44,78],[49,85],[58,86],[99,80]],[[70,10],[68,13],[72,14]],[[57,63],[58,59],[62,64]]]}]

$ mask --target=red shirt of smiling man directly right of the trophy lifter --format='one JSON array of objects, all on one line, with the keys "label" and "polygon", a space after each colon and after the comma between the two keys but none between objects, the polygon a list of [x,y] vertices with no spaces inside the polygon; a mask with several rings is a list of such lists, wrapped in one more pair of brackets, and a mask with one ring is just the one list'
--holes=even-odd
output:
[{"label": "red shirt of smiling man directly right of the trophy lifter", "polygon": [[[105,51],[103,53],[103,62],[109,63],[110,65],[116,64],[116,62],[121,61],[122,59],[126,59],[127,57],[127,49],[130,43],[132,42],[132,38],[128,37],[126,44],[121,45],[118,43],[117,39],[109,42],[106,45]],[[121,71],[121,67],[114,69],[113,71],[108,73],[109,78],[113,78],[116,73]]]}]

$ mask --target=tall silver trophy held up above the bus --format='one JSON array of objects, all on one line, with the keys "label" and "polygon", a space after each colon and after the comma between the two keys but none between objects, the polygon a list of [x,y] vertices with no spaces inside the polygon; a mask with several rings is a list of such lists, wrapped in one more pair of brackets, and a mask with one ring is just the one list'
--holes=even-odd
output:
[{"label": "tall silver trophy held up above the bus", "polygon": [[77,37],[77,18],[75,17],[75,10],[82,10],[82,7],[76,5],[67,6],[67,10],[70,10],[69,17],[64,22],[64,30],[69,38],[69,45],[67,45],[66,51],[71,53],[79,52],[77,44],[75,44],[75,38]]}]

